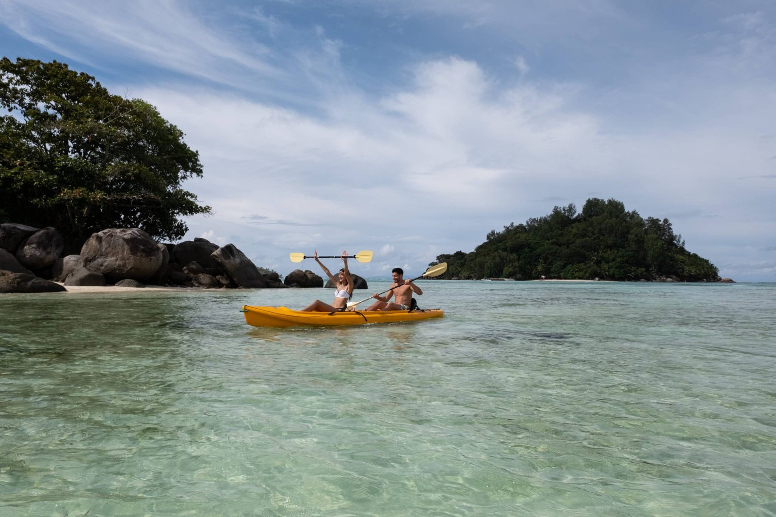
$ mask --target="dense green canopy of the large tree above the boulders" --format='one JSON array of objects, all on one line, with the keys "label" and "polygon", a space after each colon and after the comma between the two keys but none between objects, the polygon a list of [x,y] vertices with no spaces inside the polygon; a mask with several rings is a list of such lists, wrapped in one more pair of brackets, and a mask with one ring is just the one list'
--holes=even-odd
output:
[{"label": "dense green canopy of the large tree above the boulders", "polygon": [[68,243],[106,228],[157,239],[207,214],[182,181],[202,176],[184,134],[140,99],[67,64],[0,60],[0,221],[54,226]]}]

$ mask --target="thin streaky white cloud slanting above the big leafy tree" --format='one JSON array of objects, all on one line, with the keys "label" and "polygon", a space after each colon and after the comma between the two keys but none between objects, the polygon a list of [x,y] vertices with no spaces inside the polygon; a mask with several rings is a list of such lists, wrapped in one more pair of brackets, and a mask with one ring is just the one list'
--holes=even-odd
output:
[{"label": "thin streaky white cloud slanting above the big leafy tree", "polygon": [[305,93],[310,84],[295,77],[306,64],[293,58],[293,48],[271,46],[279,30],[271,17],[261,19],[257,11],[254,26],[235,28],[219,16],[204,16],[202,9],[176,0],[4,0],[0,23],[41,47],[112,74],[117,62],[140,74],[151,66],[158,73],[174,72],[279,102],[310,102]]}]

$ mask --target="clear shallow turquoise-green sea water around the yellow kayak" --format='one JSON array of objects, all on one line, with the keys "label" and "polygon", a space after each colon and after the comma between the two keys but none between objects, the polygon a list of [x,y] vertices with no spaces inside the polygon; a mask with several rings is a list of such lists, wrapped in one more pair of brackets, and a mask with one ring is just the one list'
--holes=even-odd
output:
[{"label": "clear shallow turquoise-green sea water around the yellow kayak", "polygon": [[0,515],[776,515],[776,284],[422,286],[3,295]]}]

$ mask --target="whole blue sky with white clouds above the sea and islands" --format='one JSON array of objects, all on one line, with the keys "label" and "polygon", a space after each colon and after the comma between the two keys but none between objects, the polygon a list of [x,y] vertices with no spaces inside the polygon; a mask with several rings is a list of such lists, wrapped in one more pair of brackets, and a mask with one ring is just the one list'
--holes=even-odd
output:
[{"label": "whole blue sky with white clouds above the sea and islands", "polygon": [[[776,4],[0,0],[7,57],[143,98],[199,150],[185,186],[281,274],[373,250],[420,274],[490,229],[615,198],[723,277],[776,281]],[[314,264],[304,264],[314,269]]]}]

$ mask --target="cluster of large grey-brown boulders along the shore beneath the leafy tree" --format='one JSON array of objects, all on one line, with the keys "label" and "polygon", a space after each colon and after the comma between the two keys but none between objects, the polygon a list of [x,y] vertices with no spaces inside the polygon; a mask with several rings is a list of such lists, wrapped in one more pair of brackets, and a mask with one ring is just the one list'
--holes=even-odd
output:
[{"label": "cluster of large grey-brown boulders along the shore beneath the leafy tree", "polygon": [[[277,273],[270,272],[265,277],[234,244],[219,247],[200,238],[177,245],[157,243],[141,229],[109,228],[93,233],[81,246],[80,255],[61,257],[63,241],[61,234],[52,227],[37,229],[18,223],[2,223],[0,270],[53,279],[66,285],[288,287],[282,284]],[[306,278],[304,283],[316,284],[316,277]],[[13,289],[37,290],[45,285],[36,283],[18,287],[27,280],[29,278],[14,280],[16,287]]]}]

